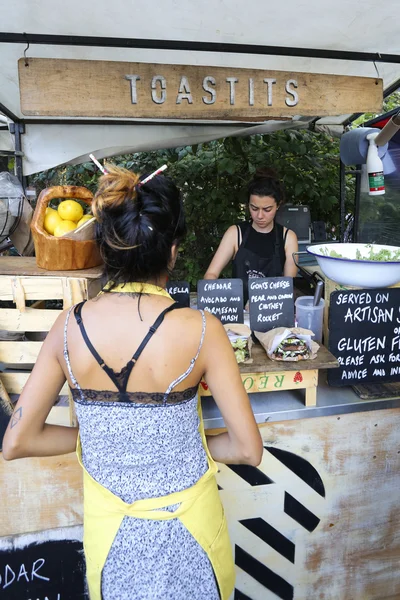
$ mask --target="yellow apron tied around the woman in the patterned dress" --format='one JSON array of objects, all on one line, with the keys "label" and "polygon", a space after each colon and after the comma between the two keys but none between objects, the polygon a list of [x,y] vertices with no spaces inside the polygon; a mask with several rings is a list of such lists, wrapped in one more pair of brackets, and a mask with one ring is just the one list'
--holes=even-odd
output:
[{"label": "yellow apron tied around the woman in the patterned dress", "polygon": [[[127,284],[123,291],[137,291],[136,285],[138,284]],[[135,289],[132,289],[133,286]],[[145,288],[147,293],[160,293],[158,291],[160,288],[156,288],[156,286],[145,284]],[[121,292],[122,290],[116,288],[115,291]],[[141,291],[146,293],[143,288]],[[162,295],[167,295],[164,290],[162,291]],[[207,448],[200,398],[198,399],[198,414],[199,432],[208,458],[207,472],[192,487],[181,492],[158,498],[137,500],[132,504],[127,504],[114,495],[86,471],[82,463],[78,437],[77,455],[83,468],[83,544],[90,600],[101,600],[101,573],[125,516],[160,521],[179,519],[206,552],[218,582],[221,600],[228,600],[231,595],[235,583],[232,548],[215,479],[218,468]],[[180,504],[175,512],[160,510],[172,504]]]}]

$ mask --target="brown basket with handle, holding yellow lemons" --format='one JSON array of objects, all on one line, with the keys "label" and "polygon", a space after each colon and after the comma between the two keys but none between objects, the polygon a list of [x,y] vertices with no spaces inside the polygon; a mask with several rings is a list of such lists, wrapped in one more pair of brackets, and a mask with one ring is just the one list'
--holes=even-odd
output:
[{"label": "brown basket with handle, holding yellow lemons", "polygon": [[31,223],[37,265],[48,271],[77,271],[101,265],[103,261],[94,240],[56,238],[45,231],[46,208],[53,198],[79,199],[90,206],[93,194],[74,185],[55,186],[41,192]]}]

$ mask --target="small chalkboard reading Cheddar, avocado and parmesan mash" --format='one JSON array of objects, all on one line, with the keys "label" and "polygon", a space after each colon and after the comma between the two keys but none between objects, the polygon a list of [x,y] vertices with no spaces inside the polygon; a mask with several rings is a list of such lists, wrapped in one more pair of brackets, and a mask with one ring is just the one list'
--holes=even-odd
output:
[{"label": "small chalkboard reading Cheddar, avocado and parmesan mash", "polygon": [[198,281],[197,308],[208,310],[222,323],[243,323],[243,281],[241,279]]}]

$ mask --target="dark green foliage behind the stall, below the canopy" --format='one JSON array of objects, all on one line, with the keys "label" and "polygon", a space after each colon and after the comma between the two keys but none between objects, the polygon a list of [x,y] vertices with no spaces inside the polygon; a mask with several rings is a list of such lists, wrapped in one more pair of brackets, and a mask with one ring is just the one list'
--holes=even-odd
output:
[{"label": "dark green foliage behind the stall, below the canopy", "polygon": [[[259,166],[276,169],[288,203],[308,205],[312,219],[325,221],[331,237],[338,231],[339,140],[326,134],[286,130],[119,156],[110,162],[142,173],[168,164],[168,175],[182,190],[188,222],[175,276],[192,285],[204,275],[226,229],[245,217],[247,182]],[[38,192],[60,184],[84,185],[94,191],[97,179],[96,167],[85,163],[40,173],[30,183]],[[347,186],[351,204],[351,179]]]}]

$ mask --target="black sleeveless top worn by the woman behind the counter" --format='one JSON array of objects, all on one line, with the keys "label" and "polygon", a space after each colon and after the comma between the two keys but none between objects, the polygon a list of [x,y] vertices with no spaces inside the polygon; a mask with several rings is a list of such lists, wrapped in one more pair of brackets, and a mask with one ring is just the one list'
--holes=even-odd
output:
[{"label": "black sleeveless top worn by the woman behind the counter", "polygon": [[[238,228],[238,245],[240,241],[240,228]],[[250,277],[280,277],[283,275],[284,263],[282,264],[281,249],[285,246],[288,230],[282,235],[282,229],[274,225],[275,241],[272,256],[263,258],[246,248],[246,242],[249,238],[252,225],[248,223],[243,235],[236,256],[232,263],[232,277],[237,277],[243,281],[244,303],[249,299],[248,281]],[[281,234],[281,235],[280,235]]]}]

